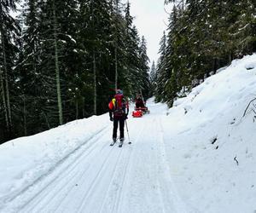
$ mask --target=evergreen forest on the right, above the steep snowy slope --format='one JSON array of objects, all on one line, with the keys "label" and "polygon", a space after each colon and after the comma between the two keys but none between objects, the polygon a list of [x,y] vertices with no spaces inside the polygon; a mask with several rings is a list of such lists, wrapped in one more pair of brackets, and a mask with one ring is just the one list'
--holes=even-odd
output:
[{"label": "evergreen forest on the right, above the steep snowy slope", "polygon": [[176,3],[160,40],[151,79],[156,101],[172,107],[218,68],[256,51],[253,0],[165,0]]}]

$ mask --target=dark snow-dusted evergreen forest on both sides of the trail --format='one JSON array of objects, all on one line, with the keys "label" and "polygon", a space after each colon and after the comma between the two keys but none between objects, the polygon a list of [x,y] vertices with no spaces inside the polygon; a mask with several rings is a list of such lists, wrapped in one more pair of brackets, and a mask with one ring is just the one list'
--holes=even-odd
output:
[{"label": "dark snow-dusted evergreen forest on both sides of the trail", "polygon": [[218,68],[256,51],[255,1],[165,2],[172,3],[150,68],[129,1],[2,0],[0,143],[107,112],[115,89],[172,107]]}]

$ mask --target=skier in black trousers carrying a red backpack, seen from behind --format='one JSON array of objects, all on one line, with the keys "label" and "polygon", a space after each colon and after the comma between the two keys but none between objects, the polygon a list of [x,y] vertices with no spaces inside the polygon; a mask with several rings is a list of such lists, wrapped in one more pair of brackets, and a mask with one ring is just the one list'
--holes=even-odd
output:
[{"label": "skier in black trousers carrying a red backpack, seen from behind", "polygon": [[125,129],[125,119],[127,119],[129,112],[128,101],[125,101],[123,91],[117,89],[116,95],[108,104],[109,117],[113,121],[113,142],[117,139],[117,130],[119,124],[119,140],[122,143],[125,140],[124,129]]}]

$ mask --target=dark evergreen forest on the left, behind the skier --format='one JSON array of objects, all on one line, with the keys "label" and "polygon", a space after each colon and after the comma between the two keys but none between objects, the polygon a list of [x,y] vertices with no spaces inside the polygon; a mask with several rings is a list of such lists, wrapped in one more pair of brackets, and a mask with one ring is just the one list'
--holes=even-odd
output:
[{"label": "dark evergreen forest on the left, behind the skier", "polygon": [[19,3],[0,3],[1,142],[102,114],[115,89],[149,95],[147,42],[130,3]]}]

